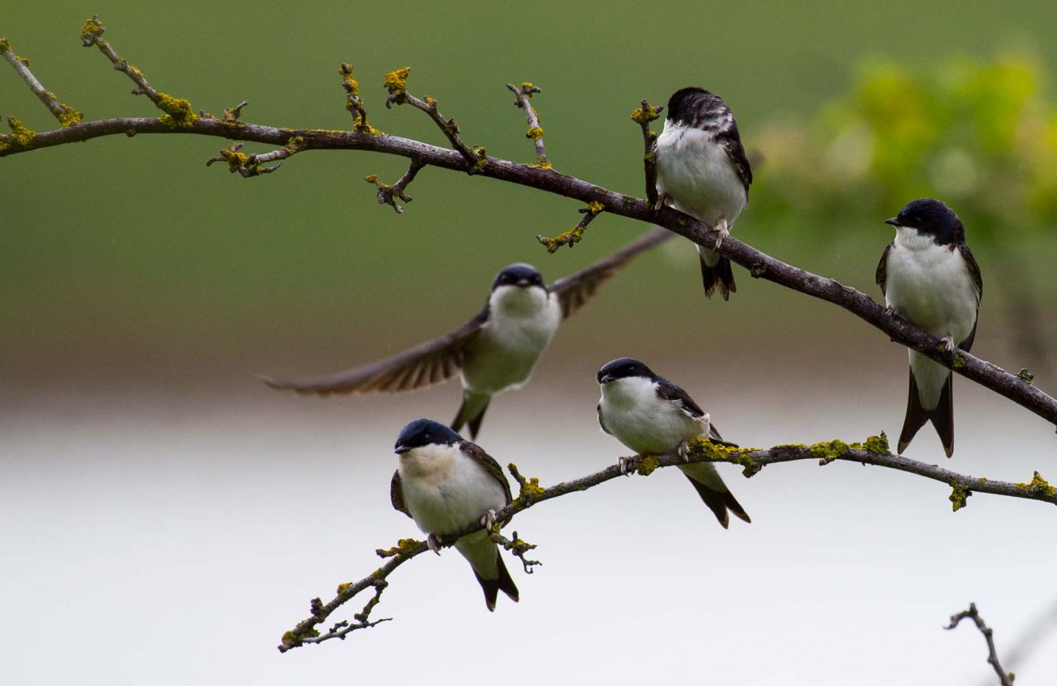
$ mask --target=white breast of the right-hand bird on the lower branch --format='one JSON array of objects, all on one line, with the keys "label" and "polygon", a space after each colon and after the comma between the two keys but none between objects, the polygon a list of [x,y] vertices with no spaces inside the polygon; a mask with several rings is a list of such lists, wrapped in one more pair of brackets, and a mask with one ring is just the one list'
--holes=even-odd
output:
[{"label": "white breast of the right-hand bird on the lower branch", "polygon": [[708,415],[693,419],[661,398],[643,376],[602,384],[598,412],[606,429],[635,452],[671,452],[683,441],[708,432]]}]

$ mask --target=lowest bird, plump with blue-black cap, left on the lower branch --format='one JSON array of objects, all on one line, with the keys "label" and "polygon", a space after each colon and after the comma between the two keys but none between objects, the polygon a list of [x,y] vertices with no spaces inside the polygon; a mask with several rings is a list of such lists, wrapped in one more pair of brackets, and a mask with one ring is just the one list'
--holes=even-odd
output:
[{"label": "lowest bird, plump with blue-black cap, left on the lower branch", "polygon": [[[440,422],[425,418],[409,422],[396,437],[393,451],[400,456],[389,484],[393,509],[414,520],[438,555],[438,537],[478,522],[490,527],[496,511],[511,504],[511,486],[499,463]],[[500,591],[518,601],[518,587],[487,531],[463,536],[455,546],[474,569],[489,612],[495,612]]]}]

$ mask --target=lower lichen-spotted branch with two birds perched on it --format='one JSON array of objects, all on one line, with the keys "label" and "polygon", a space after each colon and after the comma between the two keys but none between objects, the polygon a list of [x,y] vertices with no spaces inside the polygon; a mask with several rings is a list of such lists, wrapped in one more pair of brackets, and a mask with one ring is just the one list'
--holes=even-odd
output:
[{"label": "lower lichen-spotted branch with two birds perched on it", "polygon": [[[742,474],[746,477],[752,477],[767,465],[798,460],[817,460],[819,465],[830,464],[834,461],[857,462],[864,465],[869,464],[906,471],[939,481],[951,487],[952,493],[949,499],[952,502],[952,509],[954,512],[964,507],[966,498],[973,493],[1037,500],[1057,505],[1057,493],[1055,493],[1055,488],[1042,480],[1038,472],[1035,472],[1035,478],[1030,483],[1009,483],[957,474],[935,465],[892,455],[888,450],[888,439],[884,433],[879,437],[870,437],[863,443],[849,444],[836,440],[816,443],[810,446],[777,445],[769,449],[735,448],[713,444],[707,439],[700,438],[689,442],[685,459],[679,455],[637,456],[628,461],[628,474],[649,476],[657,468],[672,467],[690,462],[729,462],[743,467]],[[624,476],[620,474],[619,465],[613,464],[586,477],[543,487],[539,485],[539,479],[523,477],[516,465],[511,464],[508,469],[518,483],[520,490],[518,497],[509,505],[496,513],[496,524],[489,532],[492,535],[498,535],[498,527],[500,525],[509,522],[518,513],[528,509],[537,503],[580,493]],[[482,524],[475,524],[452,536],[440,538],[441,546],[450,546],[463,536],[480,531],[483,527]],[[494,538],[494,540],[507,550],[513,551],[515,555],[521,558],[526,572],[530,572],[530,568],[533,564],[539,563],[536,560],[524,559],[524,553],[534,549],[535,545],[525,543],[519,539],[516,532],[513,541],[502,537]],[[427,550],[425,541],[415,539],[401,539],[394,548],[378,550],[377,554],[382,557],[390,558],[389,561],[358,581],[339,586],[337,595],[327,605],[322,605],[318,598],[313,600],[311,604],[311,616],[301,620],[296,627],[283,634],[282,643],[278,647],[279,650],[285,652],[304,644],[322,643],[331,638],[345,637],[349,631],[353,630],[349,628],[350,625],[338,623],[338,625],[334,625],[326,633],[320,633],[316,627],[326,622],[334,611],[357,594],[369,588],[377,589],[377,585],[384,582],[397,567]],[[376,595],[379,593],[379,591],[376,591]],[[374,605],[369,605],[370,608],[374,607]],[[351,626],[355,628],[366,627],[365,623],[368,620],[368,614],[369,609],[365,608],[364,611],[354,616],[359,624]]]}]

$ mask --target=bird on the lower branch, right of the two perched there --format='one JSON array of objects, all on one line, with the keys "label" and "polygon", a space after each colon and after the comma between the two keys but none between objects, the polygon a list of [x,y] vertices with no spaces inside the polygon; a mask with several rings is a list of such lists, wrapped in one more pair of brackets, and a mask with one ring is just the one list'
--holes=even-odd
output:
[{"label": "bird on the lower branch, right of the two perched there", "polygon": [[[659,376],[641,360],[618,357],[606,363],[596,376],[601,387],[598,424],[602,431],[639,455],[678,451],[685,457],[686,443],[699,435],[713,443],[738,447],[723,441],[701,407],[682,388]],[[752,522],[745,508],[723,483],[716,465],[694,462],[679,465],[698,495],[716,515],[723,529],[728,512]]]}]

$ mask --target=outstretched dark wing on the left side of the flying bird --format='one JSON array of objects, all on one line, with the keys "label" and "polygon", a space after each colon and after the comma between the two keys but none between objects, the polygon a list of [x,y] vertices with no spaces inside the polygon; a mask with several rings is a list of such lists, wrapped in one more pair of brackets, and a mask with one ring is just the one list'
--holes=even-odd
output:
[{"label": "outstretched dark wing on the left side of the flying bird", "polygon": [[424,342],[387,359],[327,376],[273,378],[259,376],[271,386],[298,393],[370,393],[409,391],[442,382],[462,368],[466,345],[488,319],[485,305],[476,317],[437,340]]}]

